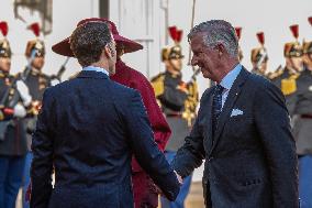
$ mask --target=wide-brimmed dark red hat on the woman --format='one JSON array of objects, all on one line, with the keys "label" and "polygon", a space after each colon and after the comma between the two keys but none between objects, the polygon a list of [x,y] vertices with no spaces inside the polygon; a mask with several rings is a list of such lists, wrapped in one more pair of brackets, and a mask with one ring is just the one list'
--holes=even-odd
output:
[{"label": "wide-brimmed dark red hat on the woman", "polygon": [[[81,20],[80,22],[78,22],[77,28],[88,23],[88,22],[105,22],[109,24],[109,28],[112,32],[112,35],[114,37],[114,41],[116,43],[121,43],[124,46],[124,53],[132,53],[132,52],[136,52],[138,50],[143,50],[143,46],[140,43],[136,43],[134,41],[131,41],[124,36],[121,36],[116,30],[116,26],[113,22],[109,21],[108,19],[103,19],[103,18],[89,18],[89,19],[85,19]],[[70,36],[69,36],[70,37]],[[69,37],[63,40],[62,42],[55,44],[52,46],[52,51],[54,51],[55,53],[59,54],[59,55],[64,55],[64,56],[71,56],[74,57],[74,53],[70,50],[70,44],[69,44]]]}]

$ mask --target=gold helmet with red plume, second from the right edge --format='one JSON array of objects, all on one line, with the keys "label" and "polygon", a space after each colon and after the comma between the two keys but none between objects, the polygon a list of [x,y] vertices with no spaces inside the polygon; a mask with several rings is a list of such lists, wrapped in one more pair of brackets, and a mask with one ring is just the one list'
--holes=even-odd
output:
[{"label": "gold helmet with red plume, second from the right edge", "polygon": [[302,45],[298,42],[299,37],[299,25],[293,24],[290,26],[292,35],[296,39],[296,42],[286,43],[283,46],[283,56],[285,57],[301,57],[303,55]]}]

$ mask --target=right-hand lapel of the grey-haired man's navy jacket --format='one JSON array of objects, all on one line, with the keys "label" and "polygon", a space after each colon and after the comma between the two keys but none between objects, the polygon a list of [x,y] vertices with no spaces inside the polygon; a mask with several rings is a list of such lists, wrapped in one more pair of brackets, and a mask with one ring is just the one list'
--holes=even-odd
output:
[{"label": "right-hand lapel of the grey-haired man's navy jacket", "polygon": [[[212,144],[210,153],[213,151],[213,149],[215,147],[215,145],[216,145],[219,139],[220,139],[220,135],[223,131],[223,128],[224,128],[226,121],[229,120],[231,110],[233,109],[233,106],[235,105],[235,102],[236,102],[236,100],[239,96],[239,92],[242,90],[242,87],[243,87],[244,83],[246,81],[248,75],[249,75],[249,73],[243,67],[241,73],[238,74],[237,78],[235,79],[232,88],[230,89],[229,96],[226,98],[226,101],[223,106],[222,112],[221,112],[220,118],[219,118],[218,127],[216,127],[216,130],[215,130],[215,135],[213,138],[213,144]],[[210,119],[210,121],[212,119]]]}]

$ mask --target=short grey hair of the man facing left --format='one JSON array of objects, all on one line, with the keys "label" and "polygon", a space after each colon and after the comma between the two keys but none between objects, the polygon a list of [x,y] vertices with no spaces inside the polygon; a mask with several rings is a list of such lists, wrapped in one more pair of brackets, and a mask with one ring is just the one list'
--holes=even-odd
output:
[{"label": "short grey hair of the man facing left", "polygon": [[207,46],[213,47],[221,43],[231,56],[238,56],[238,37],[231,23],[224,20],[202,22],[191,29],[188,40],[190,41],[198,33],[203,33],[203,42]]}]

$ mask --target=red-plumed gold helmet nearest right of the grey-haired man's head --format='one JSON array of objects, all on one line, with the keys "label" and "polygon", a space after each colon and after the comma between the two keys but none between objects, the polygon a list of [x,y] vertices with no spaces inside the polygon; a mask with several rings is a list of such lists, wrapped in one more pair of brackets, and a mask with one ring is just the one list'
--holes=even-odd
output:
[{"label": "red-plumed gold helmet nearest right of the grey-haired man's head", "polygon": [[258,42],[260,47],[255,47],[252,50],[250,59],[252,63],[264,63],[268,61],[267,50],[265,48],[265,34],[264,32],[257,33]]}]

